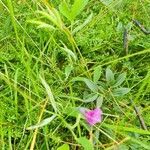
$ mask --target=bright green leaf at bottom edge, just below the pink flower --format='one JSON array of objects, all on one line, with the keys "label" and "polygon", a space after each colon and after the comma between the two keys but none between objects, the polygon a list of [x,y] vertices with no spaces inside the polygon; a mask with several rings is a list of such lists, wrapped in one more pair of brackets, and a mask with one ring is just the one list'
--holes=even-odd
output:
[{"label": "bright green leaf at bottom edge, just below the pink flower", "polygon": [[94,150],[92,143],[86,137],[80,137],[77,141],[85,150]]}]

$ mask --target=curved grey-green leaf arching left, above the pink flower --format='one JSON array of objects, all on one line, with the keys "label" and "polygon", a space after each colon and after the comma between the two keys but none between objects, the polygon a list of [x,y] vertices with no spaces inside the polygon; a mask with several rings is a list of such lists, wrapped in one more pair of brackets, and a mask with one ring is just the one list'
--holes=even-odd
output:
[{"label": "curved grey-green leaf arching left, above the pink flower", "polygon": [[87,78],[76,77],[76,78],[73,78],[72,81],[83,81],[91,91],[98,92],[98,85]]}]

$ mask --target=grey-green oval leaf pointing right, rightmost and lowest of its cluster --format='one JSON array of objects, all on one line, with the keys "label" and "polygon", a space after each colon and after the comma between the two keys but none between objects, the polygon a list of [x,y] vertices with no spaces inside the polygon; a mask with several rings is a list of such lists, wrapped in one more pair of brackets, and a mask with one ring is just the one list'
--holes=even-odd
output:
[{"label": "grey-green oval leaf pointing right, rightmost and lowest of its cluster", "polygon": [[113,90],[113,96],[123,96],[127,93],[129,93],[130,88],[118,88]]}]

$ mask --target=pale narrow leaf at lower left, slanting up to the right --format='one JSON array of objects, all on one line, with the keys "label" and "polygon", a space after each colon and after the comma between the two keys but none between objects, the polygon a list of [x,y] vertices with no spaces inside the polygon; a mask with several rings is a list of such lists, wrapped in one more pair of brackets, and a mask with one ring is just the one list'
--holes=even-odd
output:
[{"label": "pale narrow leaf at lower left, slanting up to the right", "polygon": [[42,120],[40,123],[28,127],[27,130],[33,130],[33,129],[43,127],[43,126],[49,124],[55,117],[56,117],[56,115],[52,115],[51,117]]}]

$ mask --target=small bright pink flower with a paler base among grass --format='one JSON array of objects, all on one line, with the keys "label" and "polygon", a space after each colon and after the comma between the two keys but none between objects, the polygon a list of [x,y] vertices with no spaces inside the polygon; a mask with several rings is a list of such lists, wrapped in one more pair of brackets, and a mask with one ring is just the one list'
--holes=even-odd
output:
[{"label": "small bright pink flower with a paler base among grass", "polygon": [[100,108],[95,108],[94,110],[82,109],[80,112],[84,115],[87,123],[91,126],[102,120],[102,110]]}]

